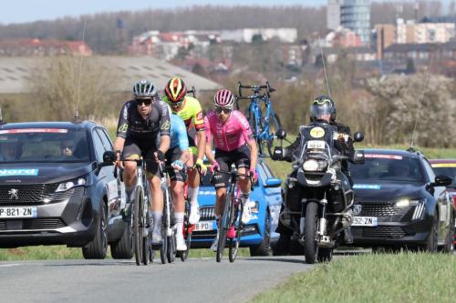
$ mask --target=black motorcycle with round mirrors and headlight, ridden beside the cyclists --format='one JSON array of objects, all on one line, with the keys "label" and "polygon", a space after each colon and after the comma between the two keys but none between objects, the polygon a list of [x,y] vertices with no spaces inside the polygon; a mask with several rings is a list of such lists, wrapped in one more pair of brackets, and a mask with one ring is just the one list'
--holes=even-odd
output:
[{"label": "black motorcycle with round mirrors and headlight, ridden beside the cyclists", "polygon": [[[275,159],[292,162],[292,172],[285,182],[285,211],[298,242],[304,246],[306,263],[330,261],[333,250],[343,242],[342,231],[352,223],[355,199],[347,176],[342,172],[342,161],[364,163],[364,152],[353,157],[343,155],[335,142],[348,135],[337,132],[337,126],[313,122],[300,126],[301,143],[293,153],[283,147],[285,130],[277,131],[281,145],[275,147]],[[364,138],[355,133],[354,142]],[[281,220],[282,220],[281,216]],[[288,223],[288,224],[287,224]]]}]

